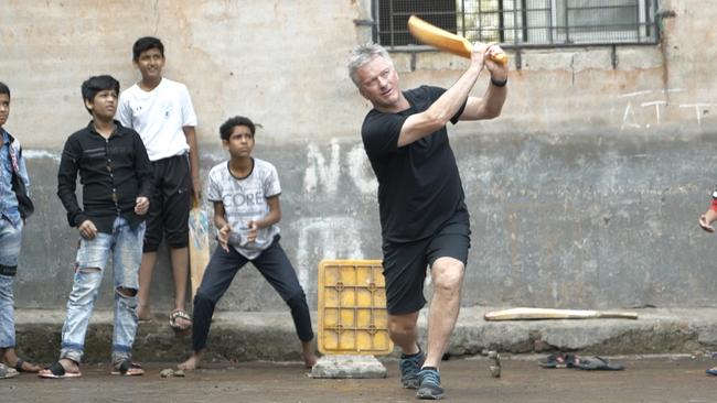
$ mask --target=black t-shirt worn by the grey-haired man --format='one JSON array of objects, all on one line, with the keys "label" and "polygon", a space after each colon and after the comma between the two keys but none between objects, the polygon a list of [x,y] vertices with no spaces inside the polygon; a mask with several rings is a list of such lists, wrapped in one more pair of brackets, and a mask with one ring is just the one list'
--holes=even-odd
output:
[{"label": "black t-shirt worn by the grey-haired man", "polygon": [[[464,195],[446,127],[398,148],[406,119],[428,109],[446,90],[421,86],[404,92],[410,108],[398,113],[372,109],[362,127],[364,149],[378,179],[382,235],[393,242],[431,236],[456,210]],[[451,118],[456,124],[465,104]]]}]

